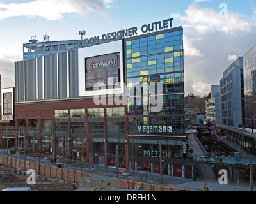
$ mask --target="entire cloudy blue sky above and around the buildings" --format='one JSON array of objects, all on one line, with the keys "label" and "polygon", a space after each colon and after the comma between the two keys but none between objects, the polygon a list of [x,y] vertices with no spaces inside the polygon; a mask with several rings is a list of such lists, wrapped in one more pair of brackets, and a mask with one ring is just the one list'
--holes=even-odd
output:
[{"label": "entire cloudy blue sky above and around the buildings", "polygon": [[256,44],[255,0],[0,0],[2,87],[14,86],[14,62],[31,36],[77,40],[174,18],[184,28],[186,94],[204,96],[223,71]]}]

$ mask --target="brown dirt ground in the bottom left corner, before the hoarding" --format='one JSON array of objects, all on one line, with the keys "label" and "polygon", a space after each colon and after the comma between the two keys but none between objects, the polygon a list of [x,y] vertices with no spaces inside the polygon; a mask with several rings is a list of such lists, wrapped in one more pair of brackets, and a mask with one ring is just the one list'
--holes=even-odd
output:
[{"label": "brown dirt ground in the bottom left corner, before the hoarding", "polygon": [[[6,187],[31,187],[31,191],[73,191],[77,185],[70,183],[53,183],[36,179],[36,184],[27,184],[26,176],[12,172],[12,168],[0,166],[0,191]],[[74,185],[74,186],[73,186]]]}]

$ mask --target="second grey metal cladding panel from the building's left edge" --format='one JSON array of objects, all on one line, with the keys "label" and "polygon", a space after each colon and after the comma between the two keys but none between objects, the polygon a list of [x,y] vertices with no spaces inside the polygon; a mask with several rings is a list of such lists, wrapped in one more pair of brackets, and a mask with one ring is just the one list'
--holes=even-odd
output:
[{"label": "second grey metal cladding panel from the building's left edge", "polygon": [[36,59],[24,61],[25,64],[25,101],[36,100]]}]

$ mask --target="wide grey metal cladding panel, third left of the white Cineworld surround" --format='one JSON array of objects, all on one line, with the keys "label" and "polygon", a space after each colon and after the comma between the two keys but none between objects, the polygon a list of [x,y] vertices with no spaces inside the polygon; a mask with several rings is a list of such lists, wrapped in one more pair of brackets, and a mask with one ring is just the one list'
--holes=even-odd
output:
[{"label": "wide grey metal cladding panel, third left of the white Cineworld surround", "polygon": [[56,54],[44,57],[44,96],[57,98],[57,59]]}]

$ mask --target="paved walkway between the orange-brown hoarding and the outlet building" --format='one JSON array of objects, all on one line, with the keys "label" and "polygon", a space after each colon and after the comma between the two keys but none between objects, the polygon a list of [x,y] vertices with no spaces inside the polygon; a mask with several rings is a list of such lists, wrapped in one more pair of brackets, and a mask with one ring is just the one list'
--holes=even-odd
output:
[{"label": "paved walkway between the orange-brown hoarding and the outlet building", "polygon": [[[3,155],[3,151],[0,151],[0,154]],[[18,159],[24,159],[24,156],[20,156],[19,154],[10,154],[6,155],[8,157],[16,157]],[[35,163],[38,163],[38,158],[35,160],[31,156],[26,157],[26,161],[33,161]],[[41,164],[50,164],[50,161],[40,159]],[[80,164],[64,164],[65,169],[70,170],[76,170],[80,171]],[[107,175],[109,177],[116,177],[116,173],[114,171],[116,170],[115,167],[108,166],[107,173],[105,166],[94,164],[94,169],[91,170],[88,167],[88,164],[83,164],[83,172],[90,173],[94,175]],[[122,169],[123,170],[123,169]],[[228,182],[227,185],[219,184],[217,180],[208,180],[207,178],[204,179],[184,179],[179,177],[172,177],[168,175],[163,175],[163,184],[159,184],[160,181],[160,175],[156,173],[149,173],[145,171],[132,171],[132,170],[124,170],[127,173],[130,173],[130,176],[124,176],[124,175],[118,175],[120,179],[127,179],[127,180],[134,180],[137,182],[147,182],[150,184],[157,184],[157,185],[163,185],[163,186],[169,186],[169,187],[175,187],[178,189],[186,189],[190,191],[202,191],[202,188],[204,186],[204,182],[207,181],[209,191],[250,191],[250,183],[249,180],[241,180],[240,186],[236,184],[236,182]],[[132,177],[134,173],[134,177]],[[145,179],[143,179],[145,177]],[[242,178],[241,178],[242,179]],[[253,184],[253,191],[256,191],[256,184]]]}]

